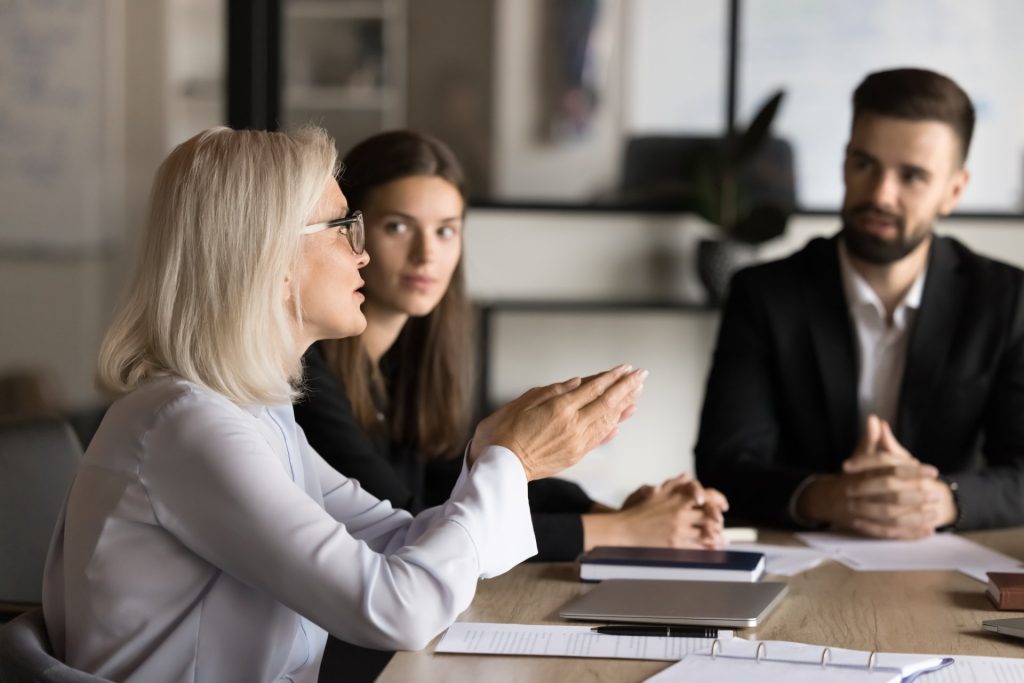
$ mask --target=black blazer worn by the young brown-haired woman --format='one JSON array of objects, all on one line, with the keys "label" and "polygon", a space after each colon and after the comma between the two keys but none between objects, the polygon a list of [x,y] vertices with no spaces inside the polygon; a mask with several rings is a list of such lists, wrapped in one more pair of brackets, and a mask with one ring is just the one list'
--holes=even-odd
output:
[{"label": "black blazer worn by the young brown-haired woman", "polygon": [[[385,361],[386,356],[382,365]],[[386,434],[368,435],[355,421],[345,389],[317,345],[306,352],[303,362],[305,394],[295,404],[295,420],[328,464],[357,479],[377,498],[414,514],[447,500],[462,471],[461,458],[428,461],[412,444]],[[594,502],[580,486],[563,479],[530,481],[527,493],[537,537],[534,559],[575,559],[583,552],[580,515]]]}]

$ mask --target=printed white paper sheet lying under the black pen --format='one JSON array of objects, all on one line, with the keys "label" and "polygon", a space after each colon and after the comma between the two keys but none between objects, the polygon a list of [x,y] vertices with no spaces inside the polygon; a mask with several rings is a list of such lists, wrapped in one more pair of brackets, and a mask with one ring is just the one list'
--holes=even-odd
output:
[{"label": "printed white paper sheet lying under the black pen", "polygon": [[[731,640],[732,631],[720,630],[718,639]],[[707,638],[605,636],[594,633],[589,626],[457,622],[434,652],[678,661],[690,652],[707,650],[711,642]]]}]

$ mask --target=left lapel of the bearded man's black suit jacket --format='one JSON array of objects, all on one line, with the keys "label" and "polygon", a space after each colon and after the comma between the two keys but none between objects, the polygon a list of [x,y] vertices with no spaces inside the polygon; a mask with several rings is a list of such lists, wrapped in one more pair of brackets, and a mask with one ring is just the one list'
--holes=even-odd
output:
[{"label": "left lapel of the bearded man's black suit jacket", "polygon": [[846,460],[857,442],[857,353],[839,268],[839,243],[833,238],[812,257],[805,290],[808,324],[824,389],[833,440],[833,464]]}]

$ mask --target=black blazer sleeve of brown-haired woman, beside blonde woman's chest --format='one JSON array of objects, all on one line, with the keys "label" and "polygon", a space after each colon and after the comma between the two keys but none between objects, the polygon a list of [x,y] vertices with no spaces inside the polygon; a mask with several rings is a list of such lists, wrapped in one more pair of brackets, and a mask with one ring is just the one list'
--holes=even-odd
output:
[{"label": "black blazer sleeve of brown-haired woman, beside blonde woman's chest", "polygon": [[388,462],[386,453],[355,421],[344,387],[337,380],[319,350],[306,352],[305,392],[295,403],[295,420],[309,444],[334,469],[357,479],[359,484],[396,508],[416,507],[416,492]]}]

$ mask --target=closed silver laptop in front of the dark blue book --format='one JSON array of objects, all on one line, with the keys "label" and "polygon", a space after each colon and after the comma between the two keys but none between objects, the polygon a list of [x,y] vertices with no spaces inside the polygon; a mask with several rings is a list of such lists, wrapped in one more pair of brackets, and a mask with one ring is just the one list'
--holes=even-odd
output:
[{"label": "closed silver laptop in front of the dark blue book", "polygon": [[609,579],[568,602],[562,618],[633,624],[757,626],[785,595],[786,585],[719,581]]}]

